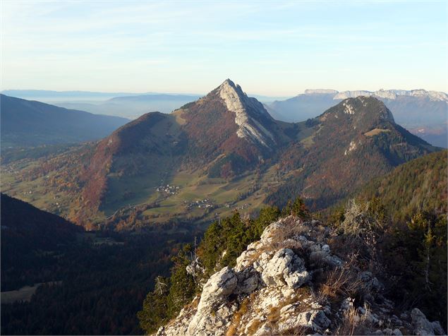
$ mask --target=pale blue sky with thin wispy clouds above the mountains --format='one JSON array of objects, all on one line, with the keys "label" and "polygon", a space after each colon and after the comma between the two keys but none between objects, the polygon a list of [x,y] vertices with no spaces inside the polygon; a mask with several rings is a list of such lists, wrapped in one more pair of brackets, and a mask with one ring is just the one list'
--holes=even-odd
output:
[{"label": "pale blue sky with thin wispy clouds above the mountains", "polygon": [[448,91],[447,1],[1,0],[1,90]]}]

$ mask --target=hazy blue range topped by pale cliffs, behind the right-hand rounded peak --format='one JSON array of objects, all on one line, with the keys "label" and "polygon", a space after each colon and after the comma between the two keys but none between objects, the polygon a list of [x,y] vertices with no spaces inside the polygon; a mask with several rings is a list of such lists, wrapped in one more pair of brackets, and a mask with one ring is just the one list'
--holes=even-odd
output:
[{"label": "hazy blue range topped by pale cliffs, behind the right-hand rounded peak", "polygon": [[447,148],[448,95],[426,90],[305,90],[288,100],[272,102],[267,109],[274,118],[296,122],[312,118],[349,97],[376,97],[386,104],[397,123],[427,140]]}]

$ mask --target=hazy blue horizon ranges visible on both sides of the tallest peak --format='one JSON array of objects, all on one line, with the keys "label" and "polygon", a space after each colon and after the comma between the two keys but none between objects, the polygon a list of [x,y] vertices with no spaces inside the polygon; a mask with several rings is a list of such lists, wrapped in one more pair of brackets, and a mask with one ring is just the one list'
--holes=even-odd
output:
[{"label": "hazy blue horizon ranges visible on both sides of the tallest peak", "polygon": [[[49,90],[4,90],[3,93],[23,99],[39,100],[66,109],[78,109],[92,114],[106,114],[137,119],[158,111],[171,113],[202,95],[173,93],[130,93]],[[321,114],[337,102],[349,97],[377,97],[391,109],[396,122],[432,145],[448,147],[448,98],[444,92],[426,90],[354,90],[339,92],[320,89],[305,90],[301,95],[286,99],[252,95],[265,104],[274,119],[287,122],[305,121]]]}]

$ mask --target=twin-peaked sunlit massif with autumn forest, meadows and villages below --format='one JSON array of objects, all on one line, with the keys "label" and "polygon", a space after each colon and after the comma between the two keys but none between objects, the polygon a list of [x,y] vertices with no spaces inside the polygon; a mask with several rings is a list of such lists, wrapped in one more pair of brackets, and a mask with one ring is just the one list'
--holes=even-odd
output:
[{"label": "twin-peaked sunlit massif with autumn forest, meadows and villages below", "polygon": [[144,114],[98,143],[21,168],[6,190],[86,227],[123,207],[143,222],[210,220],[298,195],[322,208],[435,150],[375,97],[291,124],[225,80],[171,114]]}]

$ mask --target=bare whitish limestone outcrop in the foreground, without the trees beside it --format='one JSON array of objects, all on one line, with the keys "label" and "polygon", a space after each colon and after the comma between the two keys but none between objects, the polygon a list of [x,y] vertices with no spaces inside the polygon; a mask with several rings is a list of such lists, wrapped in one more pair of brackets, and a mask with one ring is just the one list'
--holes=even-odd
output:
[{"label": "bare whitish limestone outcrop in the foreground, without the trees beside it", "polygon": [[393,303],[368,270],[356,270],[363,306],[359,298],[330,301],[316,294],[322,274],[345,265],[326,244],[329,235],[317,221],[286,217],[270,224],[234,268],[214,273],[200,297],[157,335],[344,335],[341,325],[349,313],[364,335],[444,335],[440,323],[417,308],[394,316]]}]

